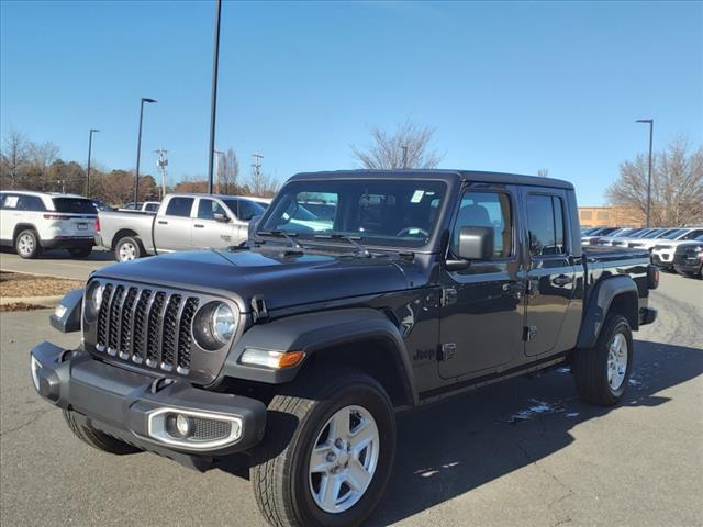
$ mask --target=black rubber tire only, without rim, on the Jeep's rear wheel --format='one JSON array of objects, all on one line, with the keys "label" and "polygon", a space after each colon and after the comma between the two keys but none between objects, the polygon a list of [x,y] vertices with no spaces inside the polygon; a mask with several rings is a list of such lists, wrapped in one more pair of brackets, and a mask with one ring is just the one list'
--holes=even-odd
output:
[{"label": "black rubber tire only, without rim, on the Jeep's rear wheel", "polygon": [[[610,346],[616,335],[627,344],[625,377],[616,389],[609,383]],[[633,369],[633,334],[627,318],[621,314],[609,314],[593,348],[577,349],[573,357],[576,386],[581,400],[596,406],[613,406],[623,397]]]}]

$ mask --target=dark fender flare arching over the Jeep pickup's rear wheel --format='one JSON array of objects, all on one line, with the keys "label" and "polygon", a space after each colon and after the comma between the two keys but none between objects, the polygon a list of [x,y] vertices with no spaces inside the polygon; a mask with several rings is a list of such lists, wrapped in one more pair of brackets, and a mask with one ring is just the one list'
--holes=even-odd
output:
[{"label": "dark fender flare arching over the Jeep pickup's rear wheel", "polygon": [[588,298],[583,322],[577,339],[578,348],[592,348],[595,346],[601,328],[605,322],[605,316],[613,303],[613,300],[621,295],[628,295],[628,301],[633,302],[635,312],[624,313],[629,319],[633,330],[639,328],[639,292],[635,281],[627,276],[616,276],[601,280],[595,284]]}]

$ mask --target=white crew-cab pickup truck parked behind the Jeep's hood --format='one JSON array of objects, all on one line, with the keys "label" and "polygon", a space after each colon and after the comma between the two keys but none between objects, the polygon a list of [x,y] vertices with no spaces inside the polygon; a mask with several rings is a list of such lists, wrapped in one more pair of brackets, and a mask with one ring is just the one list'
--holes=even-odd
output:
[{"label": "white crew-cab pickup truck parked behind the Jeep's hood", "polygon": [[100,212],[98,243],[115,260],[177,250],[243,245],[248,223],[264,213],[256,199],[216,194],[168,194],[156,214]]}]

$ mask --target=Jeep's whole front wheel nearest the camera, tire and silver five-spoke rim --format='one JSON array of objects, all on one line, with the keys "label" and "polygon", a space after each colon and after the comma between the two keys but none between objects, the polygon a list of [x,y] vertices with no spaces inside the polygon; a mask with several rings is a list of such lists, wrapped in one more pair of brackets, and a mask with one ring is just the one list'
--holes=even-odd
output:
[{"label": "Jeep's whole front wheel nearest the camera, tire and silver five-spoke rim", "polygon": [[358,525],[381,498],[394,453],[395,417],[381,385],[320,371],[269,404],[253,458],[256,502],[277,527]]}]

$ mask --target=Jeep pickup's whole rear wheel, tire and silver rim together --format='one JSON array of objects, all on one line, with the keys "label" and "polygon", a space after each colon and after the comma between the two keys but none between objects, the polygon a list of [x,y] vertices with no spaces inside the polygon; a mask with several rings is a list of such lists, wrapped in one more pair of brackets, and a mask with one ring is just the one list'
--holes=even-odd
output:
[{"label": "Jeep pickup's whole rear wheel, tire and silver rim together", "polygon": [[609,314],[593,348],[578,349],[573,373],[580,397],[612,406],[625,394],[633,367],[633,334],[627,318]]}]

